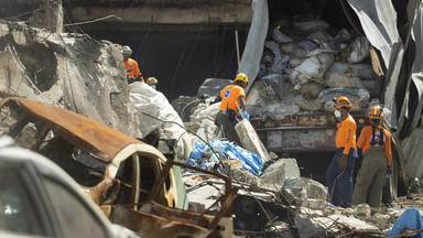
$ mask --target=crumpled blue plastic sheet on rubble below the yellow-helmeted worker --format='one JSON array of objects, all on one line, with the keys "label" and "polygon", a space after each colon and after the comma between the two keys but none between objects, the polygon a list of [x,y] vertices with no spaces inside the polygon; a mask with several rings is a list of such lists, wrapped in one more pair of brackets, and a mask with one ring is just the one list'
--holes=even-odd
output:
[{"label": "crumpled blue plastic sheet on rubble below the yellow-helmeted worker", "polygon": [[[256,153],[251,153],[240,147],[235,145],[230,141],[213,140],[208,142],[213,149],[219,153],[219,156],[224,156],[228,160],[241,160],[243,170],[250,172],[253,175],[260,175],[263,169],[263,160]],[[185,163],[205,167],[207,161],[203,161],[203,154],[213,153],[212,149],[204,142],[194,143],[193,152]]]}]

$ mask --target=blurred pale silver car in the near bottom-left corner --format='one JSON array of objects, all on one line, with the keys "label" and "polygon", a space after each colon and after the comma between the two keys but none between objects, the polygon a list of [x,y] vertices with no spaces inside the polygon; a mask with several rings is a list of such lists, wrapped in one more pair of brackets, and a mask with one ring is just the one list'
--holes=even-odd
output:
[{"label": "blurred pale silver car in the near bottom-left corner", "polygon": [[135,238],[113,225],[61,167],[0,137],[0,237]]}]

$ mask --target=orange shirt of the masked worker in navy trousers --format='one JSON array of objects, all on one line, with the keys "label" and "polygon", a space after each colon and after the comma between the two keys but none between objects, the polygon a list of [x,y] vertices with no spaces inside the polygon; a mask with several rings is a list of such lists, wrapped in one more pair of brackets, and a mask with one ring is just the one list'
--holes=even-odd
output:
[{"label": "orange shirt of the masked worker in navy trousers", "polygon": [[345,148],[344,154],[348,154],[349,150],[356,149],[356,130],[357,125],[354,118],[348,115],[345,120],[337,125],[338,131],[336,132],[336,148]]}]

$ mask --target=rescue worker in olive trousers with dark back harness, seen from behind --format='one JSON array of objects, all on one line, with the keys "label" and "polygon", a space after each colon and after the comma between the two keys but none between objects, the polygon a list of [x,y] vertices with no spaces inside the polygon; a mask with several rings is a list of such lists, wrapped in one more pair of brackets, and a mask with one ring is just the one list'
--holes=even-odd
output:
[{"label": "rescue worker in olive trousers with dark back harness, seen from behind", "polygon": [[380,106],[370,108],[371,126],[364,127],[358,138],[364,159],[352,195],[352,205],[368,203],[375,209],[380,209],[386,174],[391,173],[391,136],[381,127],[382,110]]}]

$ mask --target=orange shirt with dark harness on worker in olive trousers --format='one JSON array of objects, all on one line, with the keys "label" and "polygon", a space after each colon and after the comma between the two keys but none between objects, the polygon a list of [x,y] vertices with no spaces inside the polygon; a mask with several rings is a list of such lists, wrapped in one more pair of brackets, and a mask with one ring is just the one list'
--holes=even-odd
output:
[{"label": "orange shirt with dark harness on worker in olive trousers", "polygon": [[[362,149],[362,152],[366,152],[371,145],[371,138],[373,137],[373,130],[371,126],[366,126],[362,128],[360,137],[358,138],[357,147]],[[380,129],[375,129],[375,141],[380,141]],[[388,130],[383,130],[383,150],[384,156],[387,158],[387,164],[391,165],[391,136]]]}]

